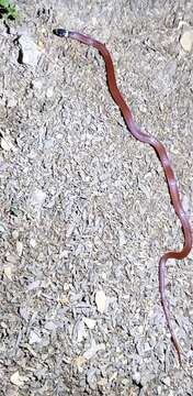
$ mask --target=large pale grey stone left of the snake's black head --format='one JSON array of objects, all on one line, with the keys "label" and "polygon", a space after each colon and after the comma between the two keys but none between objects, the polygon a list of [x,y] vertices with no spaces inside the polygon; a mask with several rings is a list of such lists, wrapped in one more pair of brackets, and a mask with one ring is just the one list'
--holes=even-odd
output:
[{"label": "large pale grey stone left of the snake's black head", "polygon": [[27,33],[23,33],[19,38],[19,43],[21,45],[22,63],[36,67],[41,52],[32,37]]}]

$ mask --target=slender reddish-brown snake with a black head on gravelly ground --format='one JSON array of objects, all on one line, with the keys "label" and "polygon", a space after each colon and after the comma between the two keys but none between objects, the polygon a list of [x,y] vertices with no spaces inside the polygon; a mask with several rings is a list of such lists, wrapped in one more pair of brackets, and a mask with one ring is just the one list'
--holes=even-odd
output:
[{"label": "slender reddish-brown snake with a black head on gravelly ground", "polygon": [[173,343],[173,346],[174,346],[177,355],[178,355],[179,363],[181,365],[182,364],[181,349],[180,349],[179,342],[177,340],[177,337],[175,337],[175,333],[174,333],[174,330],[172,327],[169,301],[168,301],[167,295],[166,295],[166,270],[167,270],[167,261],[169,258],[183,260],[184,257],[186,257],[189,255],[189,253],[191,252],[191,249],[192,249],[192,230],[191,230],[188,215],[185,213],[182,202],[181,202],[181,199],[180,199],[179,188],[178,188],[178,185],[175,182],[173,169],[170,164],[169,156],[167,154],[167,151],[166,151],[163,144],[157,138],[152,136],[149,133],[141,131],[139,129],[139,127],[136,124],[129,107],[126,105],[120,89],[117,88],[113,61],[112,61],[112,57],[111,57],[110,52],[107,51],[106,46],[104,44],[102,44],[101,42],[99,42],[98,40],[92,38],[89,35],[78,33],[75,31],[68,31],[68,30],[61,29],[61,28],[55,29],[53,31],[53,33],[60,37],[66,37],[66,38],[69,37],[69,38],[76,40],[82,44],[89,45],[99,51],[100,55],[104,59],[105,69],[106,69],[106,82],[109,86],[110,94],[111,94],[114,102],[120,108],[122,117],[123,117],[129,132],[136,140],[140,141],[143,143],[147,143],[151,147],[154,147],[154,150],[162,165],[166,180],[168,184],[168,190],[169,190],[171,204],[174,208],[177,217],[179,218],[179,220],[181,222],[181,227],[182,227],[182,231],[183,231],[183,235],[184,235],[184,243],[183,243],[182,250],[166,252],[160,257],[159,265],[158,265],[158,282],[159,282],[160,302],[161,302],[161,306],[163,309],[166,323],[168,326],[168,330],[171,336],[171,341]]}]

